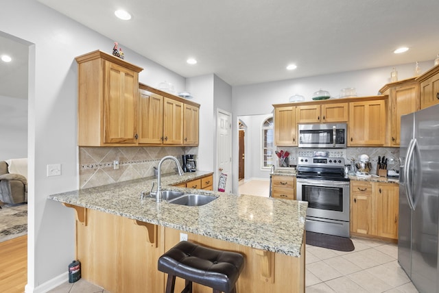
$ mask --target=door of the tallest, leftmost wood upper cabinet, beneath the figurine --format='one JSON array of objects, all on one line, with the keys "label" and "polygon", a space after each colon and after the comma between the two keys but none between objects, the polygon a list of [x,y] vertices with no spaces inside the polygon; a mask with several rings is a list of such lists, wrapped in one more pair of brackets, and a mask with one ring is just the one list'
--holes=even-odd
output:
[{"label": "door of the tallest, leftmost wood upper cabinet, beneath the figurine", "polygon": [[137,73],[108,61],[104,66],[104,142],[137,143]]}]

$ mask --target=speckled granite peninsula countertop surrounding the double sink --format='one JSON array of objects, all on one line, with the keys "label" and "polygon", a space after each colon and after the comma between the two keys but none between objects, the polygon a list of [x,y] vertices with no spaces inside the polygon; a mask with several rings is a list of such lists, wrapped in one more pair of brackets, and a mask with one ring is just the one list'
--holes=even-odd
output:
[{"label": "speckled granite peninsula countertop surrounding the double sink", "polygon": [[156,181],[154,177],[53,194],[49,199],[255,249],[300,257],[307,202],[170,186],[210,174],[197,171],[185,173],[181,177],[162,177],[163,190],[189,191],[218,197],[200,207],[176,205],[167,201],[156,203],[155,198],[150,196],[141,200],[140,192],[150,191],[152,183]]}]

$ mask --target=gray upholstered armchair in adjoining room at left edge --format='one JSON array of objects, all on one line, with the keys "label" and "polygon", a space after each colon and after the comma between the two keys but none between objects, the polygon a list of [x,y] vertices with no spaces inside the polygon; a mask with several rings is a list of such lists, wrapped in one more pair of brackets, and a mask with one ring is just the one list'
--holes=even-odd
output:
[{"label": "gray upholstered armchair in adjoining room at left edge", "polygon": [[[25,162],[27,168],[27,160],[19,160],[22,160],[23,164]],[[8,160],[8,162],[10,161]],[[0,162],[0,201],[12,204],[27,203],[26,177],[18,173],[10,173],[8,167],[10,166],[5,161]]]}]

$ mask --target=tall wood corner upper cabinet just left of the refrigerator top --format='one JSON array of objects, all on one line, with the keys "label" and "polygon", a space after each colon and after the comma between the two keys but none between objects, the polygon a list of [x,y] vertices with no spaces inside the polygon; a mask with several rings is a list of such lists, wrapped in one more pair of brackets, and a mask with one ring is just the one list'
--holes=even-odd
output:
[{"label": "tall wood corner upper cabinet just left of the refrigerator top", "polygon": [[[389,95],[388,145],[399,146],[401,140],[401,116],[420,109],[419,84],[415,78],[404,79],[385,85],[381,90]],[[390,121],[389,121],[390,120]]]}]

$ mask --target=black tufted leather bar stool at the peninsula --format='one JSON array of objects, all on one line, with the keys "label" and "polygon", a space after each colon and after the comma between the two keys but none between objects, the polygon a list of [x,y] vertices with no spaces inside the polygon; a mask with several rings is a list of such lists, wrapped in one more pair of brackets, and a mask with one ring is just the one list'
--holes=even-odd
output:
[{"label": "black tufted leather bar stool at the peninsula", "polygon": [[192,292],[192,282],[213,289],[213,293],[236,293],[235,283],[244,268],[244,256],[209,249],[182,241],[158,259],[158,270],[168,274],[166,293],[173,293],[176,277],[185,279],[182,293]]}]

